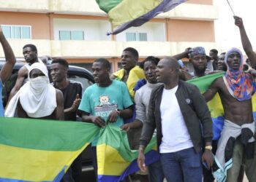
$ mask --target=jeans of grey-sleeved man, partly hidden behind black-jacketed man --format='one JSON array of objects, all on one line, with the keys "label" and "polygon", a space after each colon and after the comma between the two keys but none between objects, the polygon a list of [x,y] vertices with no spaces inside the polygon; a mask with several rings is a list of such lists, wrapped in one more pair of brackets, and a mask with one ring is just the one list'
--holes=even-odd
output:
[{"label": "jeans of grey-sleeved man, partly hidden behind black-jacketed man", "polygon": [[162,171],[161,161],[158,160],[151,165],[148,165],[149,181],[150,182],[162,182],[165,175]]}]

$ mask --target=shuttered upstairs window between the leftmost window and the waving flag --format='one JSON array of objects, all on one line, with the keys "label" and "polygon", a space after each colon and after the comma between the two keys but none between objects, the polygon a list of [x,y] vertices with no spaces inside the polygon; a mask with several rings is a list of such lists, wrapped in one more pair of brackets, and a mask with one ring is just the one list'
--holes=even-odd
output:
[{"label": "shuttered upstairs window between the leftmost window and the waving flag", "polygon": [[59,31],[59,39],[64,40],[84,40],[83,31]]}]

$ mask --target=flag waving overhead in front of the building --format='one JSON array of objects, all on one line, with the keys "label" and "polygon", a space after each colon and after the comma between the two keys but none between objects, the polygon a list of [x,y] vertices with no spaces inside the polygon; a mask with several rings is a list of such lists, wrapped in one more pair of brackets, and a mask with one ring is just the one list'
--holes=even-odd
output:
[{"label": "flag waving overhead in front of the building", "polygon": [[132,26],[140,26],[187,0],[96,0],[99,8],[108,14],[117,34]]}]

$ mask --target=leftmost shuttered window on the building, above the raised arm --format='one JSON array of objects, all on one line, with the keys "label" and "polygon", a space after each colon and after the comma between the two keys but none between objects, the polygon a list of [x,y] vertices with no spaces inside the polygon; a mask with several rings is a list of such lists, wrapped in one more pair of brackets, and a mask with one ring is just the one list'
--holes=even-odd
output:
[{"label": "leftmost shuttered window on the building, above the raised arm", "polygon": [[7,39],[31,39],[31,26],[29,25],[1,25]]}]

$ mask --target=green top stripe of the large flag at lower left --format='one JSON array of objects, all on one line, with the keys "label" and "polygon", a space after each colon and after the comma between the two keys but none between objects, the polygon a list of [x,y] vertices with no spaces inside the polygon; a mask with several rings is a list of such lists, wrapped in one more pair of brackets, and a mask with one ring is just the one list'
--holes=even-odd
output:
[{"label": "green top stripe of the large flag at lower left", "polygon": [[91,123],[0,117],[0,144],[25,149],[77,151],[97,132]]}]

